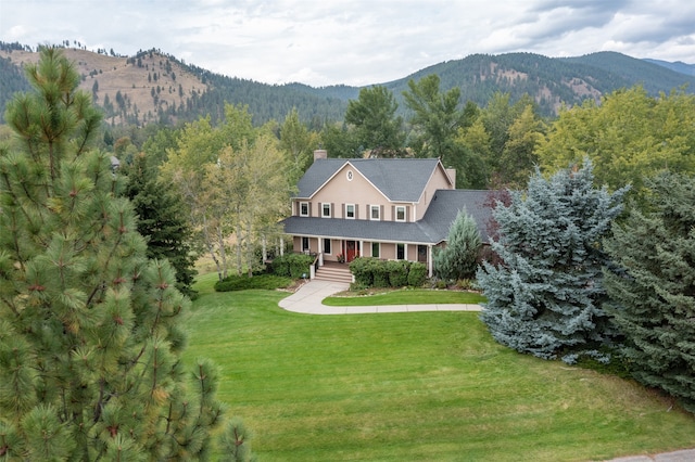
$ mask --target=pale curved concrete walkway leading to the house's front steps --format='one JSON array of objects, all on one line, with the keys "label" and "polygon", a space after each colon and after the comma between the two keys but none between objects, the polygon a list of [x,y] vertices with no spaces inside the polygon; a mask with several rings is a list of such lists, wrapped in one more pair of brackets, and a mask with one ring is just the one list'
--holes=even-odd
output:
[{"label": "pale curved concrete walkway leading to the house's front steps", "polygon": [[357,315],[366,312],[404,312],[404,311],[480,311],[480,305],[442,304],[442,305],[383,305],[366,307],[329,307],[323,304],[324,298],[350,288],[350,284],[328,281],[309,281],[296,292],[280,300],[280,307],[305,315]]}]

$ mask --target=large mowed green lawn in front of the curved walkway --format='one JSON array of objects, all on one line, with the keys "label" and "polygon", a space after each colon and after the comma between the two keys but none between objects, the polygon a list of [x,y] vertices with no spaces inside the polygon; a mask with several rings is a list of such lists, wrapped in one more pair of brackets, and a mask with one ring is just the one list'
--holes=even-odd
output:
[{"label": "large mowed green lawn in front of the curved walkway", "polygon": [[[211,293],[186,359],[263,461],[587,461],[695,446],[695,419],[630,381],[496,344],[475,312],[309,316],[287,294]],[[206,285],[207,284],[207,285]]]}]

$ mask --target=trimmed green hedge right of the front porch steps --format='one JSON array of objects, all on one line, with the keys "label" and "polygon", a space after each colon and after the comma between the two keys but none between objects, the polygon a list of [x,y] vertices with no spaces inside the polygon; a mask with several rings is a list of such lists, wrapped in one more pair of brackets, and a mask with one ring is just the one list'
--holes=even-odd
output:
[{"label": "trimmed green hedge right of the front porch steps", "polygon": [[405,260],[380,260],[358,257],[350,262],[356,287],[419,287],[427,281],[427,267]]}]

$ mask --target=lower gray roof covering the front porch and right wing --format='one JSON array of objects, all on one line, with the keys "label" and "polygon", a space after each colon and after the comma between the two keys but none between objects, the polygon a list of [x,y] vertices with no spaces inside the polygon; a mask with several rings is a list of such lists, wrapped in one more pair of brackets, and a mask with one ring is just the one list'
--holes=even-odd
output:
[{"label": "lower gray roof covering the front porch and right wing", "polygon": [[285,232],[293,235],[439,244],[446,240],[458,210],[466,208],[478,223],[482,242],[486,243],[491,209],[484,204],[489,193],[478,190],[438,190],[425,217],[416,222],[320,217],[289,217],[282,222]]}]

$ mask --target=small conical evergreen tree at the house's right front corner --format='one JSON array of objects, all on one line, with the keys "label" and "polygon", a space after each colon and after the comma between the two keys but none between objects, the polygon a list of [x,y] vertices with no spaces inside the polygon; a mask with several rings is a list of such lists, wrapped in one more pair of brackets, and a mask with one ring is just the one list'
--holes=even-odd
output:
[{"label": "small conical evergreen tree at the house's right front corner", "polygon": [[448,230],[446,247],[434,255],[434,272],[442,279],[472,278],[478,265],[481,240],[478,224],[466,209],[458,210]]}]

